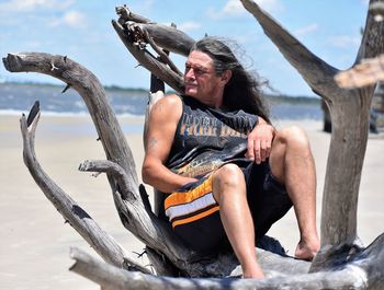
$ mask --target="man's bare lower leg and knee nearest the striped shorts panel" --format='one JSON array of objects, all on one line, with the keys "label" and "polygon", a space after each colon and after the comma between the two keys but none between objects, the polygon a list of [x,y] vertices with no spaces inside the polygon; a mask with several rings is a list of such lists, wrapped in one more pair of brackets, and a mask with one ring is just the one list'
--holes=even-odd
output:
[{"label": "man's bare lower leg and knee nearest the striped shorts panel", "polygon": [[256,258],[253,221],[241,170],[234,164],[224,165],[214,173],[212,189],[221,208],[225,232],[241,264],[244,278],[262,278]]}]

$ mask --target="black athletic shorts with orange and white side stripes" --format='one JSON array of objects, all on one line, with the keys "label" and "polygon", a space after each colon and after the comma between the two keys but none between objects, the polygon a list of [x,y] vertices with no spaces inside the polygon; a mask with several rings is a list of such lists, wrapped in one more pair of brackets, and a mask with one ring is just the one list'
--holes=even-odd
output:
[{"label": "black athletic shorts with orange and white side stripes", "polygon": [[[271,174],[268,161],[242,170],[255,235],[264,235],[292,207],[285,187]],[[176,234],[191,248],[212,252],[227,246],[219,205],[212,193],[212,174],[189,183],[165,200],[166,216]]]}]

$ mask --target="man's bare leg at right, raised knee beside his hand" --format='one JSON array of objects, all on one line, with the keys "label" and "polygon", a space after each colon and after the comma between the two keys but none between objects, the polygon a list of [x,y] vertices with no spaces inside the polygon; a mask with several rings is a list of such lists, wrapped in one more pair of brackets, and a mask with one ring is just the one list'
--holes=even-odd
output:
[{"label": "man's bare leg at right, raised knee beside his hand", "polygon": [[312,259],[320,246],[316,229],[316,169],[302,129],[291,127],[276,134],[270,165],[273,176],[285,184],[294,206],[301,233],[295,257]]}]

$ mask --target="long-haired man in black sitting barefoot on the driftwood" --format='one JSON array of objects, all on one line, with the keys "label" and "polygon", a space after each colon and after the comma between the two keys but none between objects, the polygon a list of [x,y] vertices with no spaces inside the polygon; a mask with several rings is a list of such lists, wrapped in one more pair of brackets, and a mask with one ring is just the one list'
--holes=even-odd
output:
[{"label": "long-haired man in black sitting barefoot on the driftwood", "polygon": [[312,259],[316,173],[300,128],[276,131],[259,83],[221,40],[205,37],[185,62],[185,95],[154,106],[143,181],[169,194],[166,214],[187,245],[212,252],[229,241],[245,278],[263,277],[255,237],[293,205],[301,240],[295,256]]}]

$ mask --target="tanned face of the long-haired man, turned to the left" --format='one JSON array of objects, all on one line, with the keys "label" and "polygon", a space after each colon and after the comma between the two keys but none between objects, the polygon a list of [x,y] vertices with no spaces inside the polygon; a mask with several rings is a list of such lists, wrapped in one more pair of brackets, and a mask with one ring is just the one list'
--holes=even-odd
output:
[{"label": "tanned face of the long-haired man, turned to the left", "polygon": [[212,105],[217,94],[223,94],[225,83],[214,69],[213,59],[202,53],[192,51],[185,62],[185,94]]}]

